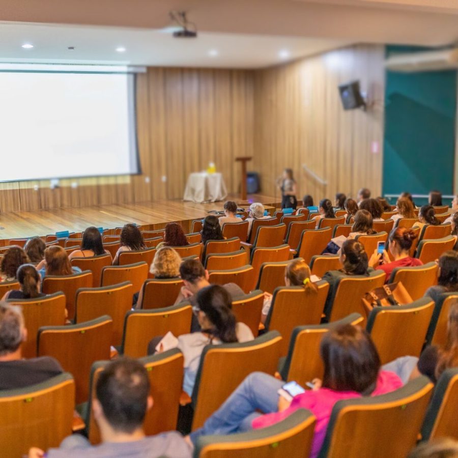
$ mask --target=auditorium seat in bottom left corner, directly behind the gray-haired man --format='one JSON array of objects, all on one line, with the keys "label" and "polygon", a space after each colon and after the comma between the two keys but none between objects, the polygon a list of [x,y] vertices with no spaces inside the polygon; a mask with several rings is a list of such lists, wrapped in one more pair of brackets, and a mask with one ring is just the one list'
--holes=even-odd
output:
[{"label": "auditorium seat in bottom left corner, directly behind the gray-haired man", "polygon": [[46,382],[0,391],[0,454],[28,456],[31,447],[59,447],[72,434],[75,382],[64,373]]}]

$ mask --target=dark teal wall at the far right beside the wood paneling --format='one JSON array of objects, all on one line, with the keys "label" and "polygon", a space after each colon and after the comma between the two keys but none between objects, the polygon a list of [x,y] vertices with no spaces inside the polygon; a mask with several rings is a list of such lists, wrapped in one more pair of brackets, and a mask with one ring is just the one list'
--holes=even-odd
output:
[{"label": "dark teal wall at the far right beside the wood paneling", "polygon": [[[418,50],[388,46],[387,55]],[[386,72],[384,194],[452,194],[455,117],[455,70]]]}]

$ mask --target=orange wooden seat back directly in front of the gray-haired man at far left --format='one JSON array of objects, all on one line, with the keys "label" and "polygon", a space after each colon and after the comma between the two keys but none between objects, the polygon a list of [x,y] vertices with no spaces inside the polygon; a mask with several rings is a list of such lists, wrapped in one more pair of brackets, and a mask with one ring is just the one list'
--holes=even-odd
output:
[{"label": "orange wooden seat back directly in front of the gray-haired man at far left", "polygon": [[27,339],[22,343],[22,357],[37,356],[37,335],[42,326],[61,326],[65,324],[65,295],[54,293],[36,299],[8,299],[20,305],[27,329]]}]

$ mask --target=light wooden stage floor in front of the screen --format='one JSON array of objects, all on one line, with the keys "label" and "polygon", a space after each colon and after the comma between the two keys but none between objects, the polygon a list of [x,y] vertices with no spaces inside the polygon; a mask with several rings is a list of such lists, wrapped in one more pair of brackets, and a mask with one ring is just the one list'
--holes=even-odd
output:
[{"label": "light wooden stage floor in front of the screen", "polygon": [[[279,197],[261,194],[248,195],[242,203],[235,196],[228,196],[242,208],[251,202],[280,207]],[[185,232],[190,231],[191,221],[204,218],[210,210],[222,210],[223,202],[196,204],[181,199],[145,202],[141,204],[100,205],[38,210],[34,212],[10,212],[0,214],[0,240],[45,236],[58,231],[80,232],[88,226],[114,228],[132,222],[160,229],[170,221],[182,223]],[[4,243],[3,243],[4,244]]]}]

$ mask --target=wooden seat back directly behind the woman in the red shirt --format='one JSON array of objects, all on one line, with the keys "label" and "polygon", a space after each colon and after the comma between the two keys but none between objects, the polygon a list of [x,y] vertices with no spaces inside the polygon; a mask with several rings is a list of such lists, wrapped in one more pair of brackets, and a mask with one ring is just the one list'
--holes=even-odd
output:
[{"label": "wooden seat back directly behind the woman in the red shirt", "polygon": [[393,269],[388,283],[401,282],[416,301],[424,296],[426,290],[437,284],[438,265],[427,263],[422,266],[396,267]]}]

